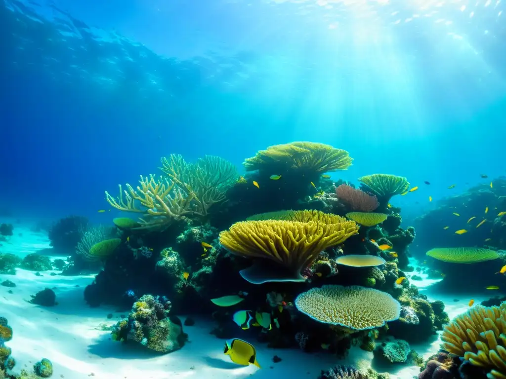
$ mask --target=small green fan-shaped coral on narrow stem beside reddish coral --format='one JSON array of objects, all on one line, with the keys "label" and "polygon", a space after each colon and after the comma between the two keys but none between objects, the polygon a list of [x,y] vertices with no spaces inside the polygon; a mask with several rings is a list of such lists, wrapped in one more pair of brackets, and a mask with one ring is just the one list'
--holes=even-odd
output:
[{"label": "small green fan-shaped coral on narrow stem beside reddish coral", "polygon": [[382,206],[387,205],[392,196],[403,194],[409,188],[405,177],[390,174],[365,175],[358,181],[362,183],[365,191],[376,196]]}]

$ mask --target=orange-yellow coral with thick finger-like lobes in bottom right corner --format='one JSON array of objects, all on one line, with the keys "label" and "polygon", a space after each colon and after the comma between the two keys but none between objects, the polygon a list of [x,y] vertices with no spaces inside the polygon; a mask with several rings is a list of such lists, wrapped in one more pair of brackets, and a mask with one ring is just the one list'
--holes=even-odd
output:
[{"label": "orange-yellow coral with thick finger-like lobes in bottom right corner", "polygon": [[444,326],[441,348],[472,365],[490,370],[490,379],[506,378],[506,313],[477,305]]}]

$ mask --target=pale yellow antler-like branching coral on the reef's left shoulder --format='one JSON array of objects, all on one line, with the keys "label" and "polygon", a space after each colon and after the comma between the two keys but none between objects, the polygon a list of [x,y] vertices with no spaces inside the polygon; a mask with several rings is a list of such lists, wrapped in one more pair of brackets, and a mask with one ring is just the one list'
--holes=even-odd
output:
[{"label": "pale yellow antler-like branching coral on the reef's left shoulder", "polygon": [[140,226],[135,229],[163,230],[175,220],[194,213],[190,209],[192,195],[175,187],[175,182],[162,177],[156,180],[155,175],[141,175],[139,183],[137,188],[127,183],[124,191],[119,184],[117,198],[105,192],[107,202],[112,207],[120,211],[142,213]]}]

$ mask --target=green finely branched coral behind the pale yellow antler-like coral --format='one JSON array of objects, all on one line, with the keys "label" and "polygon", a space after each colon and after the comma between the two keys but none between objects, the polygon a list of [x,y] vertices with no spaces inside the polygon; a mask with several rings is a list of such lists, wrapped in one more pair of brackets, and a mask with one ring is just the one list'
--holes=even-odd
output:
[{"label": "green finely branched coral behind the pale yellow antler-like coral", "polygon": [[239,176],[229,161],[206,155],[196,163],[188,163],[181,155],[172,154],[161,159],[160,169],[189,195],[192,210],[205,217],[209,208],[226,200],[227,189]]}]

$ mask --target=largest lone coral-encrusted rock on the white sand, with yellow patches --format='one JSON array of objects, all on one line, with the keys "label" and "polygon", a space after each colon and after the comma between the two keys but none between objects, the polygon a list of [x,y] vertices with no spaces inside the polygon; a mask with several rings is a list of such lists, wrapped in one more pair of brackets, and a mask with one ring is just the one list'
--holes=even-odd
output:
[{"label": "largest lone coral-encrusted rock on the white sand, with yellow patches", "polygon": [[148,349],[171,353],[181,349],[187,340],[181,320],[171,316],[172,304],[164,298],[144,295],[134,303],[128,319],[112,329],[114,341],[136,342]]}]

